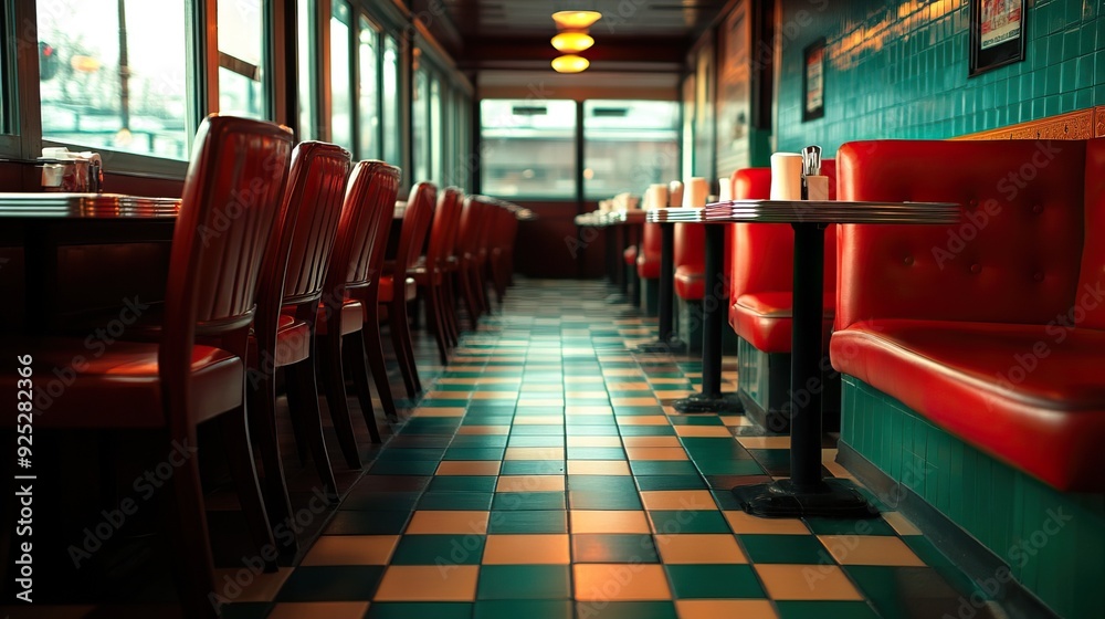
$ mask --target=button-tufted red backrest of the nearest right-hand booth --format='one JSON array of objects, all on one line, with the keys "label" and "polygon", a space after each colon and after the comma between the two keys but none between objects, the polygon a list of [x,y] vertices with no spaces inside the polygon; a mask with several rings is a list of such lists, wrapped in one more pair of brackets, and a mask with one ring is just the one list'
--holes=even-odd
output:
[{"label": "button-tufted red backrest of the nearest right-hand booth", "polygon": [[[1095,140],[1091,151],[1101,159],[1103,148]],[[839,263],[850,266],[839,271],[836,328],[871,316],[1046,324],[1070,312],[1091,223],[1085,187],[1102,169],[1087,170],[1086,151],[1074,140],[842,146],[842,200],[958,202],[966,218],[954,225],[840,225]],[[1099,188],[1093,193],[1099,197]],[[1093,207],[1092,222],[1101,224],[1105,200]],[[1094,251],[1099,274],[1105,250]],[[1102,312],[1093,324],[1102,324]]]}]

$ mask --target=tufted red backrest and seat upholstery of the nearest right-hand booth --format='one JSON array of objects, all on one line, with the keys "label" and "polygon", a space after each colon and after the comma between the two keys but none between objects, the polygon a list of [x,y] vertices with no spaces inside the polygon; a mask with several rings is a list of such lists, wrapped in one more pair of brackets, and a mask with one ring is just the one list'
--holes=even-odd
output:
[{"label": "tufted red backrest and seat upholstery of the nearest right-hand booth", "polygon": [[833,367],[1060,490],[1105,490],[1103,149],[844,145],[842,199],[955,201],[966,220],[840,227]]}]

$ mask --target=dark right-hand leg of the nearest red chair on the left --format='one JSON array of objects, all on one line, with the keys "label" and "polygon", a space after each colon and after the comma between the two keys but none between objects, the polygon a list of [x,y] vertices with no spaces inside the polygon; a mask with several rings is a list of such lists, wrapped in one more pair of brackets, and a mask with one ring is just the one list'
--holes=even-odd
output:
[{"label": "dark right-hand leg of the nearest red chair on the left", "polygon": [[273,528],[265,512],[265,504],[261,500],[261,489],[257,486],[253,447],[250,443],[250,431],[245,427],[245,408],[220,416],[219,426],[222,429],[234,487],[238,490],[238,500],[249,523],[250,535],[256,544],[257,556],[264,562],[265,571],[276,571],[276,553],[273,552],[276,549],[276,542],[273,539]]}]

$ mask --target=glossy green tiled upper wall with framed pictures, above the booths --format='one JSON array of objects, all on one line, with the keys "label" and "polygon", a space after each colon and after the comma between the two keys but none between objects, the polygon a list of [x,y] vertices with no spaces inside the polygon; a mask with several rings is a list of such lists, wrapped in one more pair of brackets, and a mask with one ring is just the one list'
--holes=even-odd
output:
[{"label": "glossy green tiled upper wall with framed pictures, above the booths", "polygon": [[[1028,4],[1024,61],[968,78],[967,0],[782,0],[777,149],[939,139],[1105,104],[1098,0]],[[802,123],[802,50],[821,36],[825,114]]]}]

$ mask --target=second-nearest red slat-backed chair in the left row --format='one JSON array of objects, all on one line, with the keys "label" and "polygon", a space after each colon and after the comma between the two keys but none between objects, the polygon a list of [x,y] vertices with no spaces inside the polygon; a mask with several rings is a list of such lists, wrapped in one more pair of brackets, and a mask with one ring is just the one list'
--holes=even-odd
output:
[{"label": "second-nearest red slat-backed chair in the left row", "polygon": [[[251,338],[250,421],[264,464],[265,499],[274,522],[292,517],[276,436],[274,378],[278,368],[284,368],[287,378],[288,411],[298,430],[301,457],[309,444],[323,486],[337,499],[318,412],[312,352],[315,316],[341,216],[349,166],[349,153],[333,144],[303,141],[295,147],[277,232],[262,264]],[[348,423],[335,421],[334,426],[345,429]],[[285,545],[282,550],[294,556],[295,545]]]}]

